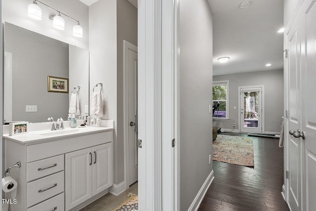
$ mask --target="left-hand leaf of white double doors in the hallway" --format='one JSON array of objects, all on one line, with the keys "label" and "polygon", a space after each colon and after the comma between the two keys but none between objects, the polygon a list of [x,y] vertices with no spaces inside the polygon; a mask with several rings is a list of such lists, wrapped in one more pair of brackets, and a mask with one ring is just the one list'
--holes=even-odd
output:
[{"label": "left-hand leaf of white double doors in the hallway", "polygon": [[[288,56],[285,58],[288,68],[288,109],[289,117],[288,129],[297,130],[301,128],[301,113],[300,113],[300,16],[298,15],[286,34]],[[284,135],[288,136],[288,205],[292,211],[301,210],[301,142],[299,138],[289,134],[289,131],[284,131]]]}]

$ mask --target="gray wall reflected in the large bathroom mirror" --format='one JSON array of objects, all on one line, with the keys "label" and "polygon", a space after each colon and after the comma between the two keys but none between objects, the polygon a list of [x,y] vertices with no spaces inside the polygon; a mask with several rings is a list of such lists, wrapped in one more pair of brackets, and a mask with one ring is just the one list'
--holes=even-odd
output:
[{"label": "gray wall reflected in the large bathroom mirror", "polygon": [[[4,51],[12,53],[12,120],[67,117],[68,94],[47,92],[47,76],[69,78],[68,44],[8,23],[4,36]],[[38,112],[25,112],[26,105]]]}]

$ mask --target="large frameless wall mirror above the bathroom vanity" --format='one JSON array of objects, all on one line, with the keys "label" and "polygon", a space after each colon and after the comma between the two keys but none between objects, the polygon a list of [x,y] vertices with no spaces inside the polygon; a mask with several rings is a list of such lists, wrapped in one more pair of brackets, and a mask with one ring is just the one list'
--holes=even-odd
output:
[{"label": "large frameless wall mirror above the bathroom vanity", "polygon": [[[68,93],[48,92],[47,76],[68,79]],[[70,95],[77,92],[77,85],[80,116],[88,115],[84,109],[89,105],[88,50],[5,22],[4,123],[67,120]],[[27,106],[37,106],[37,112]]]}]

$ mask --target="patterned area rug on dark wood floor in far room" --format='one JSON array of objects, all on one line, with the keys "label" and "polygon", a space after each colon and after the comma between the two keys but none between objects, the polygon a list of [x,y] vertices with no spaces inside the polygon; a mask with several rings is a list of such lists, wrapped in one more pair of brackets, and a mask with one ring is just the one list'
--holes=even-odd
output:
[{"label": "patterned area rug on dark wood floor in far room", "polygon": [[213,160],[254,167],[252,138],[218,134],[213,141]]}]

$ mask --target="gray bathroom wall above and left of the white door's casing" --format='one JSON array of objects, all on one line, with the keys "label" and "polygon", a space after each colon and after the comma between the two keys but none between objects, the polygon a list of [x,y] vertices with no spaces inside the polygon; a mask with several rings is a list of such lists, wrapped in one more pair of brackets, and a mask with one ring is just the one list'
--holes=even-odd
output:
[{"label": "gray bathroom wall above and left of the white door's casing", "polygon": [[[123,40],[137,46],[137,9],[128,0],[117,0],[118,35],[118,152],[124,151],[124,46]],[[118,183],[124,181],[124,156],[118,153]]]}]

